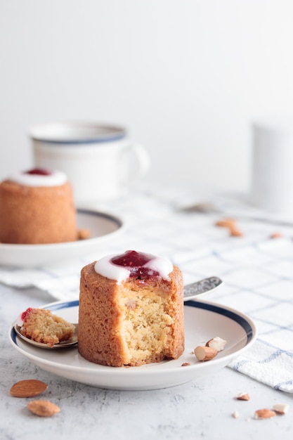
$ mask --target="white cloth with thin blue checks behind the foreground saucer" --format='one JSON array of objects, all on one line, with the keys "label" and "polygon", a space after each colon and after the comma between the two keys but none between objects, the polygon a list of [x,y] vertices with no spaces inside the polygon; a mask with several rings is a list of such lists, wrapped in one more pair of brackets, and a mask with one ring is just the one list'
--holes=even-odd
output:
[{"label": "white cloth with thin blue checks behind the foreground saucer", "polygon": [[[0,267],[0,282],[35,286],[54,299],[77,299],[84,264],[105,254],[136,249],[171,259],[185,284],[219,276],[225,285],[205,299],[246,313],[259,330],[258,339],[230,363],[241,373],[275,389],[293,392],[293,221],[292,226],[261,221],[263,213],[241,198],[209,197],[218,212],[183,212],[179,206],[202,202],[184,188],[144,188],[105,206],[122,216],[126,228],[115,242],[96,254],[39,269]],[[99,207],[100,208],[100,207]],[[241,237],[215,226],[225,216],[237,219]],[[267,218],[270,218],[267,214]],[[279,238],[271,235],[280,233]]]}]

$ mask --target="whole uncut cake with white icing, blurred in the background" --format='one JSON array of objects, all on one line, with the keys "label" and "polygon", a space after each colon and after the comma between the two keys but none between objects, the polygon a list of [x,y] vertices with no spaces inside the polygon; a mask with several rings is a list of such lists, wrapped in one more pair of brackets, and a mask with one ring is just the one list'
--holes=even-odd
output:
[{"label": "whole uncut cake with white icing, blurred in the background", "polygon": [[0,242],[74,241],[76,217],[72,186],[63,172],[30,169],[0,183]]}]

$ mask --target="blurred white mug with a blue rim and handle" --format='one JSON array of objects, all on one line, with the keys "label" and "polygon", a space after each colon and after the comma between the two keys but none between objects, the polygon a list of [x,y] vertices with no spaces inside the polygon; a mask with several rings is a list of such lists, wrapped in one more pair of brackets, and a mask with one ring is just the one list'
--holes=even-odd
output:
[{"label": "blurred white mug with a blue rim and handle", "polygon": [[30,129],[35,167],[58,169],[72,183],[77,207],[118,198],[148,172],[147,150],[123,127],[98,122],[50,122]]}]

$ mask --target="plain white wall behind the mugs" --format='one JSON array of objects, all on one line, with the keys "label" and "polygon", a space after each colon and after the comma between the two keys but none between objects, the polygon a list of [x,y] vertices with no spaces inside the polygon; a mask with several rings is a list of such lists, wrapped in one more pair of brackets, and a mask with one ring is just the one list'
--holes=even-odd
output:
[{"label": "plain white wall behind the mugs", "polygon": [[291,0],[0,0],[0,178],[27,131],[123,124],[148,179],[246,191],[254,117],[293,107]]}]

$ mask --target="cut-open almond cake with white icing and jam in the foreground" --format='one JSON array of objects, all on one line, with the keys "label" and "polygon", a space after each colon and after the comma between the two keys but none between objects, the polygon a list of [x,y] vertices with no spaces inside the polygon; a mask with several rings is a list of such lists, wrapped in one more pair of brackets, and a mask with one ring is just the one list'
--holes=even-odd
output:
[{"label": "cut-open almond cake with white icing and jam in the foreground", "polygon": [[78,350],[90,362],[114,367],[181,356],[181,270],[167,259],[134,250],[84,266]]}]

